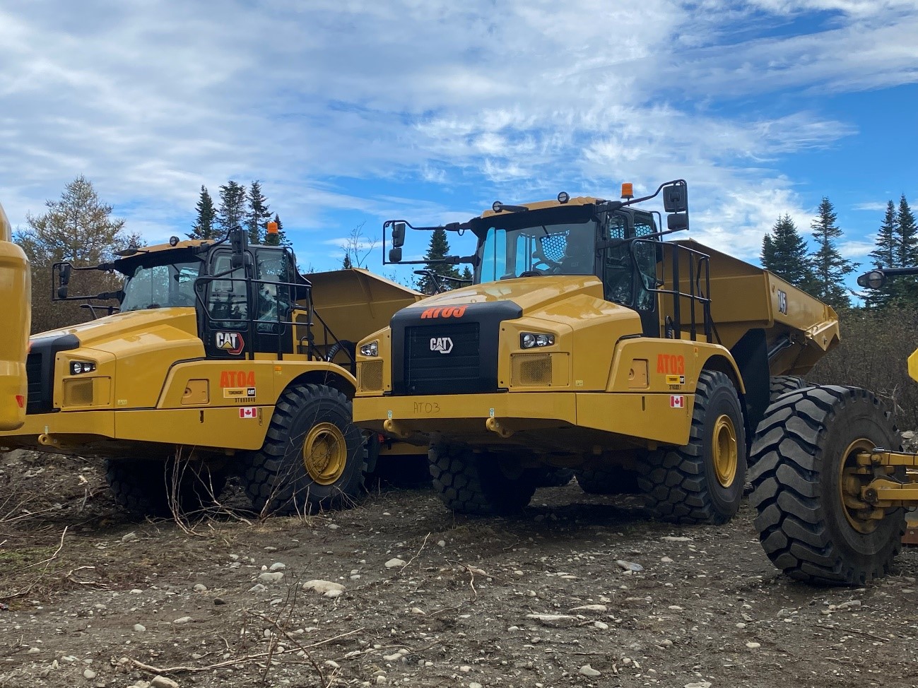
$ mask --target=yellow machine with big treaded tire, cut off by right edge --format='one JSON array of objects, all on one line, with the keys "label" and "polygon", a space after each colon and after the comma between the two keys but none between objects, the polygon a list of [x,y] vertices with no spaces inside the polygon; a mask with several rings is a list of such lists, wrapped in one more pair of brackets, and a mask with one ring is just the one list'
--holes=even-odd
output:
[{"label": "yellow machine with big treaded tire, cut off by right edge", "polygon": [[[874,270],[857,283],[879,289],[914,274],[918,267]],[[908,371],[918,381],[918,351]],[[862,585],[890,572],[906,509],[918,506],[918,455],[901,451],[874,394],[836,385],[785,394],[768,409],[753,455],[750,502],[775,566],[808,583]]]}]

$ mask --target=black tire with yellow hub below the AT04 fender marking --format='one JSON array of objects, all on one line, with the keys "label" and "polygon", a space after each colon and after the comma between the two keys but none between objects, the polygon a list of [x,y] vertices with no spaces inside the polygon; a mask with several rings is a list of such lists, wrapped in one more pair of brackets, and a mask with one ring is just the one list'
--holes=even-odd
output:
[{"label": "black tire with yellow hub below the AT04 fender marking", "polygon": [[[318,452],[311,475],[307,442]],[[365,475],[364,438],[353,425],[351,402],[324,384],[294,384],[274,405],[262,449],[245,461],[242,484],[260,514],[289,516],[356,504]]]}]

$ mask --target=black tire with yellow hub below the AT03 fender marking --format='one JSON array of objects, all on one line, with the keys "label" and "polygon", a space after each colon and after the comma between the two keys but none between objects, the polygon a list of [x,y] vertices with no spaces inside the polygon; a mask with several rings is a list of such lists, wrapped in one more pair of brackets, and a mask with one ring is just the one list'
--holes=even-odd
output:
[{"label": "black tire with yellow hub below the AT03 fender marking", "polygon": [[[722,418],[729,419],[732,429],[723,426],[727,421]],[[715,429],[735,449],[733,471],[723,470],[722,478],[715,467]],[[722,372],[701,371],[689,444],[651,451],[644,461],[638,484],[647,505],[670,523],[726,523],[739,510],[745,472],[744,417],[736,388]]]}]

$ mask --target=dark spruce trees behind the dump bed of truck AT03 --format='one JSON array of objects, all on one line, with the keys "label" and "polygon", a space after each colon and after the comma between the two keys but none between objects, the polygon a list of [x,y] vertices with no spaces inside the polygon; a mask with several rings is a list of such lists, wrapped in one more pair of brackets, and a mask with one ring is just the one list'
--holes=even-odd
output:
[{"label": "dark spruce trees behind the dump bed of truck AT03", "polygon": [[[845,278],[855,272],[857,263],[846,260],[838,249],[843,233],[836,221],[834,205],[823,196],[810,225],[814,240],[811,250],[796,223],[785,213],[762,239],[760,257],[767,270],[837,310],[851,306],[851,292],[845,287]],[[898,206],[891,200],[887,203],[875,248],[869,256],[877,268],[918,265],[918,227],[905,194],[901,194]],[[918,280],[896,278],[882,289],[856,295],[864,299],[867,307],[913,307],[918,305]]]}]

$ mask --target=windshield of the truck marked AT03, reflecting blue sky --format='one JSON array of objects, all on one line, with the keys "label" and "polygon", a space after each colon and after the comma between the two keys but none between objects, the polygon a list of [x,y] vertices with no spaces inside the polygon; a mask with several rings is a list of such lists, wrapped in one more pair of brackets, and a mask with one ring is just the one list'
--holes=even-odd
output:
[{"label": "windshield of the truck marked AT03, reflecting blue sky", "polygon": [[597,223],[489,227],[478,245],[476,282],[526,274],[594,274]]}]

